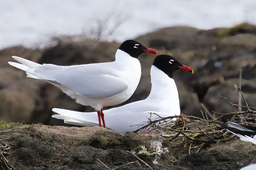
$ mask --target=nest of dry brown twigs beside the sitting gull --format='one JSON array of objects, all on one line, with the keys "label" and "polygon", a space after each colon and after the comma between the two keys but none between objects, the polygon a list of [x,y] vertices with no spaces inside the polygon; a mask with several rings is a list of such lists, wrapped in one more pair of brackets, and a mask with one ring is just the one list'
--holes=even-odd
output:
[{"label": "nest of dry brown twigs beside the sitting gull", "polygon": [[[158,118],[153,120],[148,119],[147,122],[141,122],[137,125],[140,128],[135,132],[160,129],[163,132],[162,136],[166,137],[169,142],[189,146],[189,153],[192,148],[196,148],[196,152],[199,152],[199,150],[207,144],[228,141],[235,137],[235,135],[220,126],[221,123],[224,123],[221,121],[223,117],[231,115],[231,120],[229,120],[229,122],[245,125],[256,124],[256,108],[249,107],[243,93],[241,91],[239,92],[241,93],[246,106],[231,103],[227,98],[220,96],[231,105],[234,110],[232,113],[222,114],[213,112],[213,116],[215,116],[212,120],[208,119],[207,113],[203,113],[202,111],[203,119],[183,114],[160,117],[156,113],[151,113],[157,115]],[[240,107],[239,110],[244,111],[236,111],[235,107]],[[220,116],[216,117],[216,114]]]}]

